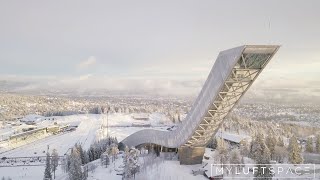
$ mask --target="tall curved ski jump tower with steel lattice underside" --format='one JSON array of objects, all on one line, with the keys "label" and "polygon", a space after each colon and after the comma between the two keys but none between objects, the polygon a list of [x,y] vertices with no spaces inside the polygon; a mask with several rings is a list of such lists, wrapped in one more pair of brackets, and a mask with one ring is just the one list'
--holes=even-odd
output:
[{"label": "tall curved ski jump tower with steel lattice underside", "polygon": [[122,142],[129,147],[178,148],[181,164],[201,163],[206,144],[279,47],[244,45],[220,52],[187,117],[175,130],[141,130]]}]

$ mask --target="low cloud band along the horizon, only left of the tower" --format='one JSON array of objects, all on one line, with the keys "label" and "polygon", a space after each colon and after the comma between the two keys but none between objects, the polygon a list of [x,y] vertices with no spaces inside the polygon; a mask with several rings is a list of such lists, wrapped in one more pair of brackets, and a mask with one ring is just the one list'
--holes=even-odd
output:
[{"label": "low cloud band along the horizon, only left of the tower", "polygon": [[[17,84],[24,80],[24,84]],[[0,77],[0,85],[2,78]],[[204,80],[181,80],[167,78],[136,78],[136,77],[110,77],[84,74],[81,76],[14,77],[4,81],[1,90],[9,92],[84,92],[98,93],[101,91],[119,94],[149,94],[195,96],[201,89]]]}]

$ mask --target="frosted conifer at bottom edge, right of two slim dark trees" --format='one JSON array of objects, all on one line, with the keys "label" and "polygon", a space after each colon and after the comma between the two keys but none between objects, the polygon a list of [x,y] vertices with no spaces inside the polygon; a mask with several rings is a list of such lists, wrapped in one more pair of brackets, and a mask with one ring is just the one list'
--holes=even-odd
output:
[{"label": "frosted conifer at bottom edge, right of two slim dark trees", "polygon": [[82,180],[81,157],[77,148],[73,148],[70,155],[69,180]]}]

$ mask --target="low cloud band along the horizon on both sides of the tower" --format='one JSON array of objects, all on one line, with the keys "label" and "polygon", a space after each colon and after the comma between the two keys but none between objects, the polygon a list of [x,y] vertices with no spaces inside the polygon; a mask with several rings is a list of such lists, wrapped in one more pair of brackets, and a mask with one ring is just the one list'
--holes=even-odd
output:
[{"label": "low cloud band along the horizon on both sides of the tower", "polygon": [[[196,97],[205,78],[106,76],[82,74],[73,76],[0,76],[0,91],[9,92],[69,92],[75,94],[140,94]],[[319,80],[298,80],[291,77],[261,77],[246,97],[286,95],[291,99],[318,97]]]}]

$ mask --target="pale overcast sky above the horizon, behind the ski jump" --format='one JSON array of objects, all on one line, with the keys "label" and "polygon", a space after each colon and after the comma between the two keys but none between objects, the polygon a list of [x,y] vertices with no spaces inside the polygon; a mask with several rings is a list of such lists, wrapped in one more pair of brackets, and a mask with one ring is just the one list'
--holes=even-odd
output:
[{"label": "pale overcast sky above the horizon, behind the ski jump", "polygon": [[219,51],[279,44],[257,86],[319,90],[319,22],[318,0],[0,0],[0,80],[197,92]]}]

